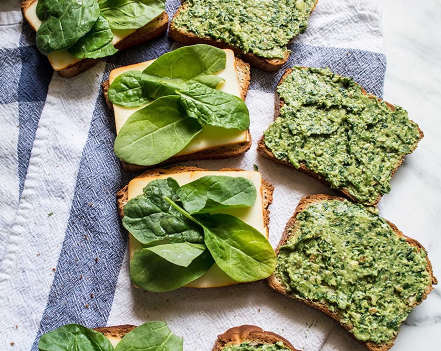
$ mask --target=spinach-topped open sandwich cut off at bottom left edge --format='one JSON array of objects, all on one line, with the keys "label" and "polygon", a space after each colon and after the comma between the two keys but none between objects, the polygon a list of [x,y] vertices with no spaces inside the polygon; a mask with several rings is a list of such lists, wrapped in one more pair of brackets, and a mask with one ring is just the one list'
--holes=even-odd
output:
[{"label": "spinach-topped open sandwich cut off at bottom left edge", "polygon": [[182,351],[183,339],[176,336],[165,322],[151,321],[138,327],[116,325],[102,328],[87,328],[79,324],[67,324],[43,334],[38,350],[146,350]]}]

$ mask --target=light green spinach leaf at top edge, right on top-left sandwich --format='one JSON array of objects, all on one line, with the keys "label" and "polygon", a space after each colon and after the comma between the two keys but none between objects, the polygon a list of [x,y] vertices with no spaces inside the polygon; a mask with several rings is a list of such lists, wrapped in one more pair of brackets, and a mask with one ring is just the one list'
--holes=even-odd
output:
[{"label": "light green spinach leaf at top edge, right on top-left sandwich", "polygon": [[103,16],[112,29],[138,29],[165,11],[164,0],[99,1]]}]

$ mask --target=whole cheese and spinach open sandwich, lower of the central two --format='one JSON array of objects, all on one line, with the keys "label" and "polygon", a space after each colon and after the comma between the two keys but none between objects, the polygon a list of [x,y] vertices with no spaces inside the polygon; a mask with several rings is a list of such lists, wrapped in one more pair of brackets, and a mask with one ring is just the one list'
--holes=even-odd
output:
[{"label": "whole cheese and spinach open sandwich, lower of the central two", "polygon": [[117,194],[135,286],[162,292],[267,278],[273,186],[256,171],[149,170]]}]

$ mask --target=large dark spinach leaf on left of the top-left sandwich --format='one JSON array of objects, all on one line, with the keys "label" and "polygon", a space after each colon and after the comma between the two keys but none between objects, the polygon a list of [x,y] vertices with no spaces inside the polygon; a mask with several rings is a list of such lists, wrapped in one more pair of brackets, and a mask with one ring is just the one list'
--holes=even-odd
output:
[{"label": "large dark spinach leaf on left of the top-left sandwich", "polygon": [[100,14],[96,0],[45,0],[43,8],[46,19],[37,30],[36,44],[44,55],[70,48],[92,29]]}]

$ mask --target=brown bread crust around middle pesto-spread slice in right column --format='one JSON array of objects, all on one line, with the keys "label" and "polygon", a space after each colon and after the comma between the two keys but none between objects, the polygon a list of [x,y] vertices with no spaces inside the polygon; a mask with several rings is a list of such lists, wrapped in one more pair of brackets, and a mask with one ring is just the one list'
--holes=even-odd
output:
[{"label": "brown bread crust around middle pesto-spread slice in right column", "polygon": [[[302,68],[303,68],[303,69],[307,69],[306,67],[302,67]],[[280,86],[280,84],[283,83],[284,79],[285,79],[285,78],[286,78],[291,72],[292,72],[292,68],[288,68],[288,69],[284,72],[284,74],[282,75],[282,77],[280,78],[280,81],[279,81],[279,83],[278,83],[277,86]],[[382,99],[377,98],[377,97],[374,96],[373,94],[369,94],[369,93],[367,93],[367,92],[363,89],[363,87],[361,87],[361,89],[362,89],[363,94],[366,94],[366,95],[370,96],[370,98],[378,99],[378,101],[382,101]],[[274,101],[274,102],[275,102],[275,103],[274,103],[274,120],[276,120],[277,117],[280,116],[280,109],[281,109],[282,106],[284,106],[284,104],[285,104],[284,100],[283,100],[282,98],[280,98],[280,95],[277,93],[277,91],[276,91],[276,93],[275,93],[275,101]],[[389,107],[389,109],[391,109],[392,111],[395,109],[395,106],[392,105],[391,103],[386,102],[386,101],[385,101],[385,103],[386,103],[386,105]],[[411,121],[411,122],[412,122],[412,121]],[[418,127],[418,125],[417,125],[417,127]],[[418,127],[418,131],[419,131],[419,140],[421,140],[422,137],[424,136],[424,134],[423,134],[422,130],[421,130],[419,127]],[[267,158],[267,159],[271,159],[272,161],[277,162],[277,163],[280,163],[280,164],[282,164],[282,165],[284,165],[284,166],[288,166],[288,167],[296,168],[296,169],[298,169],[299,171],[301,171],[301,172],[303,172],[303,173],[305,173],[305,174],[308,174],[308,175],[311,176],[311,177],[314,177],[314,178],[318,179],[319,181],[321,181],[321,182],[322,182],[323,184],[325,184],[325,185],[328,185],[328,186],[331,185],[331,183],[330,183],[325,177],[323,177],[321,174],[318,174],[318,173],[314,172],[313,170],[310,170],[310,169],[306,166],[306,164],[305,164],[304,162],[299,162],[299,165],[298,165],[299,167],[297,168],[297,167],[295,167],[291,162],[285,161],[285,160],[283,160],[283,159],[277,159],[277,158],[274,156],[273,152],[272,152],[272,151],[271,151],[271,150],[265,145],[265,139],[264,139],[264,138],[265,138],[265,137],[262,136],[262,137],[259,139],[259,141],[258,141],[257,151],[258,151],[258,154],[259,154],[259,155],[261,155],[262,157],[265,157],[265,158]],[[413,147],[412,147],[412,151],[415,150],[416,147],[418,146],[418,142],[419,142],[419,140],[413,145]],[[401,159],[396,163],[395,168],[392,170],[391,177],[395,174],[395,172],[396,172],[396,170],[398,169],[398,167],[400,167],[400,165],[401,165],[401,163],[403,162],[403,160],[404,160],[404,155],[402,155]],[[346,198],[348,198],[348,199],[350,199],[350,200],[352,200],[352,201],[360,202],[360,201],[357,200],[357,199],[353,196],[353,194],[351,194],[351,192],[350,192],[347,188],[345,188],[345,187],[337,188],[337,189],[334,189],[334,190],[335,190],[336,192],[338,192],[340,195],[345,196]],[[378,203],[378,201],[380,201],[380,199],[381,199],[381,195],[378,195],[378,197],[376,198],[376,200],[374,200],[374,201],[372,201],[372,202],[365,202],[364,204],[366,204],[366,205],[375,205],[375,204]]]}]

